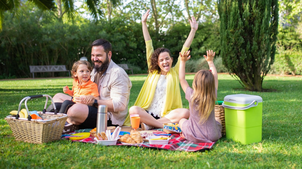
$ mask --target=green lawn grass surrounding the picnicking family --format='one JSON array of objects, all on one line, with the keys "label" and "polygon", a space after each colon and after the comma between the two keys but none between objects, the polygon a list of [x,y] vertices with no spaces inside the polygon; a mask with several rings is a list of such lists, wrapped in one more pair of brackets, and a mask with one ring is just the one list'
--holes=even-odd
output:
[{"label": "green lawn grass surrounding the picnicking family", "polygon": [[[189,84],[194,75],[186,75]],[[132,106],[146,75],[130,76]],[[71,78],[0,81],[0,168],[301,168],[302,77],[267,76],[268,92],[244,90],[230,75],[219,74],[218,100],[230,94],[263,99],[262,141],[242,145],[225,137],[205,152],[180,152],[134,146],[98,146],[58,140],[32,144],[16,141],[4,120],[21,99],[36,94],[53,96],[72,86]],[[188,108],[182,92],[184,107]],[[42,110],[45,98],[29,100],[30,110]],[[50,103],[49,103],[50,104]],[[24,104],[22,105],[24,108]]]}]

